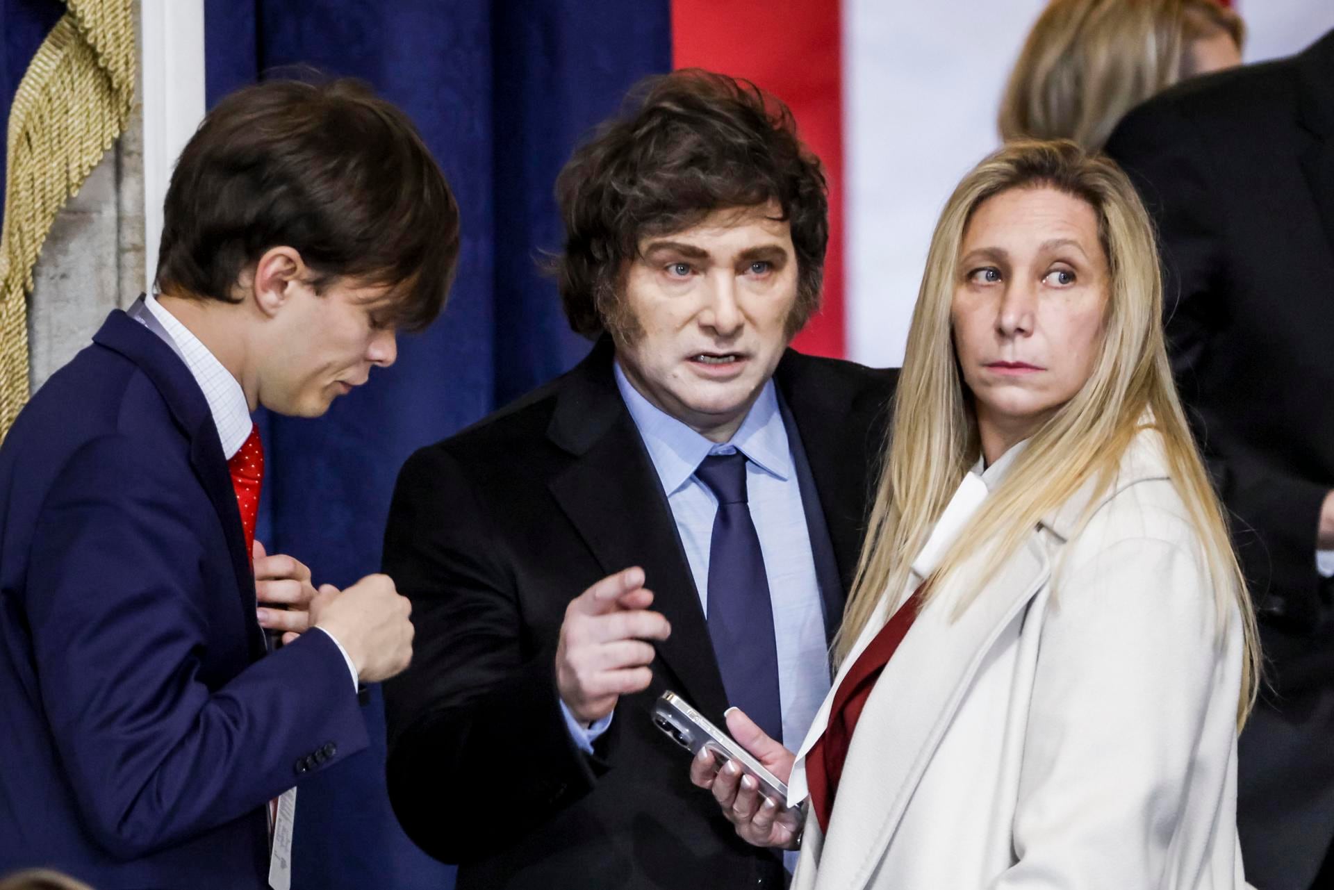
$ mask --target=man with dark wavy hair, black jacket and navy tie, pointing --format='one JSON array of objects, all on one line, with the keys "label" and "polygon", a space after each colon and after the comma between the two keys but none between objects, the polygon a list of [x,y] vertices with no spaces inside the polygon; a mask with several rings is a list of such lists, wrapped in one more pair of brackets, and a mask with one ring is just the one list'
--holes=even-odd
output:
[{"label": "man with dark wavy hair, black jacket and navy tie, pointing", "polygon": [[819,161],[787,108],[654,77],[556,183],[588,358],[404,466],[414,602],[390,795],[459,887],[779,887],[654,727],[663,690],[795,746],[860,546],[894,372],[788,348],[819,304]]}]

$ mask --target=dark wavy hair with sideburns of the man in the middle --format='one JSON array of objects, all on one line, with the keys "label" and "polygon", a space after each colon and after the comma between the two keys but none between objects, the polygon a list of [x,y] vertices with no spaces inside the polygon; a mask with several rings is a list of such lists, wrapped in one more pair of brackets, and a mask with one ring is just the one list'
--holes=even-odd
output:
[{"label": "dark wavy hair with sideburns of the man in the middle", "polygon": [[819,307],[830,231],[824,172],[798,140],[787,105],[747,80],[687,69],[639,81],[620,116],[575,149],[556,200],[566,244],[552,266],[579,334],[635,336],[622,291],[640,239],[770,201],[791,223],[796,251],[788,335]]}]

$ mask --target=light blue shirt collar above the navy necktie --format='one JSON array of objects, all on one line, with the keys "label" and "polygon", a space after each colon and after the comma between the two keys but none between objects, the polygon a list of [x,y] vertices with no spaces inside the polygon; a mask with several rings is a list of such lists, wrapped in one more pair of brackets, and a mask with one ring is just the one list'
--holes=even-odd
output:
[{"label": "light blue shirt collar above the navy necktie", "polygon": [[646,399],[634,387],[620,363],[615,363],[616,388],[648,448],[663,491],[668,495],[684,486],[700,462],[711,454],[740,451],[759,470],[787,480],[792,474],[792,452],[787,427],[778,407],[778,390],[764,383],[736,434],[726,443],[711,442]]}]

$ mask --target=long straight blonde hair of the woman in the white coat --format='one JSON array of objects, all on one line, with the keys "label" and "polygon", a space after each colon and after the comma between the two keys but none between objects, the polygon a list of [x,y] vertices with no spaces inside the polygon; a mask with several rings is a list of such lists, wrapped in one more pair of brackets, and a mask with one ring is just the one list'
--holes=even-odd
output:
[{"label": "long straight blonde hair of the woman in the white coat", "polygon": [[[1089,380],[1030,438],[1005,480],[944,554],[928,579],[926,600],[970,558],[982,554],[991,568],[999,567],[1041,519],[1090,482],[1097,503],[1114,483],[1143,419],[1150,418],[1162,438],[1171,482],[1203,544],[1219,626],[1226,626],[1234,606],[1242,615],[1246,663],[1238,702],[1241,726],[1259,677],[1255,618],[1222,506],[1173,384],[1153,227],[1126,175],[1067,140],[1018,141],[1002,148],[964,176],[940,213],[912,311],[892,435],[866,544],[834,643],[835,659],[847,656],[883,596],[896,600],[906,590],[912,559],[980,452],[950,323],[968,221],[988,197],[1043,187],[1086,201],[1098,217],[1110,280],[1103,342]],[[963,596],[958,607],[966,608],[976,592],[974,588]]]}]

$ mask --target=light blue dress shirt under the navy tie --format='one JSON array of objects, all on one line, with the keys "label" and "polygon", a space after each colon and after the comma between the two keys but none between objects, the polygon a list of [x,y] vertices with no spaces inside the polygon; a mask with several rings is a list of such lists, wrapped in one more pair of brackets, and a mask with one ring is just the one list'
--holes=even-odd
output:
[{"label": "light blue dress shirt under the navy tie", "polygon": [[[824,695],[830,690],[824,610],[810,532],[802,507],[802,491],[778,407],[774,382],[764,384],[740,428],[726,444],[710,442],[676,418],[654,407],[626,379],[616,364],[616,386],[630,416],[639,428],[663,491],[676,531],[690,562],[699,604],[708,615],[708,550],[714,536],[718,499],[695,478],[695,468],[711,454],[740,451],[747,458],[746,490],[751,520],[759,535],[768,572],[778,644],[778,687],[783,706],[783,745],[794,749],[806,738]],[[652,587],[652,579],[648,579]],[[562,705],[563,707],[563,705]],[[591,727],[582,726],[568,710],[566,723],[575,742],[587,753],[611,725],[611,715]]]}]

